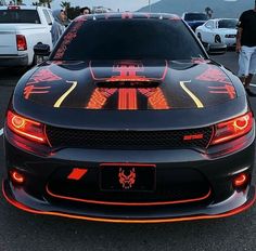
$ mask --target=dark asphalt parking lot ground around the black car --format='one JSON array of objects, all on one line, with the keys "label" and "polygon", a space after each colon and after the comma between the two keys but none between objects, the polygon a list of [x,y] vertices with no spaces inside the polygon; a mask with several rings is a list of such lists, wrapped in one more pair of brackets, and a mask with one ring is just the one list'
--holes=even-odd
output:
[{"label": "dark asphalt parking lot ground around the black car", "polygon": [[[238,55],[214,56],[236,72]],[[5,108],[22,70],[0,69],[0,177],[4,159]],[[254,78],[253,83],[256,84]],[[252,87],[254,88],[254,87]],[[256,88],[254,88],[256,92]],[[251,98],[256,111],[256,97]],[[255,183],[255,173],[254,173]],[[107,224],[34,215],[10,206],[0,194],[0,251],[29,250],[256,250],[256,206],[227,219],[172,224]]]}]

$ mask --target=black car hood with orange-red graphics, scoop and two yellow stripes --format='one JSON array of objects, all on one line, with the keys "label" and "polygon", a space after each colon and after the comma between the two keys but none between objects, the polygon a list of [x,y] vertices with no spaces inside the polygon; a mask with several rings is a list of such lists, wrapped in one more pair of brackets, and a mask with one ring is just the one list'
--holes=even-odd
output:
[{"label": "black car hood with orange-red graphics, scoop and two yellow stripes", "polygon": [[47,62],[18,89],[26,102],[54,109],[201,109],[236,97],[225,70],[201,58]]}]

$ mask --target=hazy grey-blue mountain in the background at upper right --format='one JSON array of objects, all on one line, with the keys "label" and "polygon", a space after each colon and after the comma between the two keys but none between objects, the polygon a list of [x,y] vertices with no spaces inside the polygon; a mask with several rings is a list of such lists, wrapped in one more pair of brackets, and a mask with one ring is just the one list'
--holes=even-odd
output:
[{"label": "hazy grey-blue mountain in the background at upper right", "polygon": [[[215,17],[239,17],[245,10],[254,9],[254,0],[161,0],[151,4],[151,12],[176,13],[205,12],[209,6]],[[139,12],[149,12],[149,5],[141,8]]]}]

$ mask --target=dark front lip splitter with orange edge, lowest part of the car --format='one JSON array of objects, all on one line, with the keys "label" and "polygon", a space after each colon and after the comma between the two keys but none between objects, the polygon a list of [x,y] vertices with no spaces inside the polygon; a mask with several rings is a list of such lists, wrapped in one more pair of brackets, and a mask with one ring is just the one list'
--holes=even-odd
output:
[{"label": "dark front lip splitter with orange edge, lowest part of the car", "polygon": [[246,191],[234,193],[226,201],[209,204],[206,208],[152,207],[146,210],[145,214],[144,209],[136,208],[135,210],[130,207],[124,210],[124,208],[102,207],[99,209],[99,207],[90,206],[78,209],[76,203],[68,203],[65,208],[53,206],[47,201],[36,200],[22,188],[15,189],[8,181],[2,183],[2,191],[11,204],[26,212],[107,223],[170,223],[227,217],[247,210],[256,200],[255,187],[249,187]]}]

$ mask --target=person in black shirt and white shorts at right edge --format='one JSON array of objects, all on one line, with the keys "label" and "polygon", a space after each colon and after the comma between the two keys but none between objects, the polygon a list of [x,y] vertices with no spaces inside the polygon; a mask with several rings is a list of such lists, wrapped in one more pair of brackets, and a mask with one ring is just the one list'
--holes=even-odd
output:
[{"label": "person in black shirt and white shorts at right edge", "polygon": [[247,94],[256,96],[249,90],[249,83],[256,74],[256,0],[254,9],[240,16],[235,51],[239,53],[239,78]]}]

